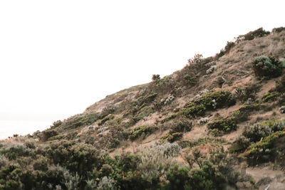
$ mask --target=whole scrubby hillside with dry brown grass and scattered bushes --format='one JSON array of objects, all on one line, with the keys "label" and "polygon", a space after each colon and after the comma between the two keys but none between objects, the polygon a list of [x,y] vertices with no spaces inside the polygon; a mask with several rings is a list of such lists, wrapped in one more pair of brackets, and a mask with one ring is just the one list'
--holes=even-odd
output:
[{"label": "whole scrubby hillside with dry brown grass and scattered bushes", "polygon": [[285,28],[0,142],[0,189],[285,189]]}]

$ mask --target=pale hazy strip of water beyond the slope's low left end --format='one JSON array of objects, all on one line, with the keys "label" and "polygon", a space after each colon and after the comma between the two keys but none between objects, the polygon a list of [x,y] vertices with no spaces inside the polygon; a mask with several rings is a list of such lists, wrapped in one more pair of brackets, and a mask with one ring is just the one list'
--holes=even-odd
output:
[{"label": "pale hazy strip of water beyond the slope's low left end", "polygon": [[13,134],[33,134],[36,130],[46,130],[52,122],[46,121],[15,121],[0,120],[0,139],[6,139]]}]

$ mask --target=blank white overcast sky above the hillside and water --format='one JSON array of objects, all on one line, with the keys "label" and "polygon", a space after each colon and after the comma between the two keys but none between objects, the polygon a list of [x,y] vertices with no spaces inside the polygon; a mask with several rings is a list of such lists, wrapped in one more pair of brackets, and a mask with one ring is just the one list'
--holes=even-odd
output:
[{"label": "blank white overcast sky above the hillside and water", "polygon": [[284,5],[0,1],[0,117],[83,112],[152,74],[181,69],[195,53],[212,56],[235,36],[285,26]]}]

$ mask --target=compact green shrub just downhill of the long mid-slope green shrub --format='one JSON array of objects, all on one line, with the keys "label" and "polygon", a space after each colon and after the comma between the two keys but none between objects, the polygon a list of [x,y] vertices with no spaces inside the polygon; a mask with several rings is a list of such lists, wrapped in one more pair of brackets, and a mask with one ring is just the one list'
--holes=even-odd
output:
[{"label": "compact green shrub just downhill of the long mid-slope green shrub", "polygon": [[207,124],[209,130],[219,130],[222,133],[229,133],[233,130],[237,130],[237,123],[232,119],[217,119]]}]

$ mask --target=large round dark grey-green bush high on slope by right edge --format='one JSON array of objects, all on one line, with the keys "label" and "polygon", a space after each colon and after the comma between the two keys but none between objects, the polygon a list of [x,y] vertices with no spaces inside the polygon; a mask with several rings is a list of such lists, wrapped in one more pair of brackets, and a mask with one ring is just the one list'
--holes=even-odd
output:
[{"label": "large round dark grey-green bush high on slope by right edge", "polygon": [[259,77],[275,78],[282,73],[282,63],[273,56],[259,56],[252,62],[254,73]]}]

